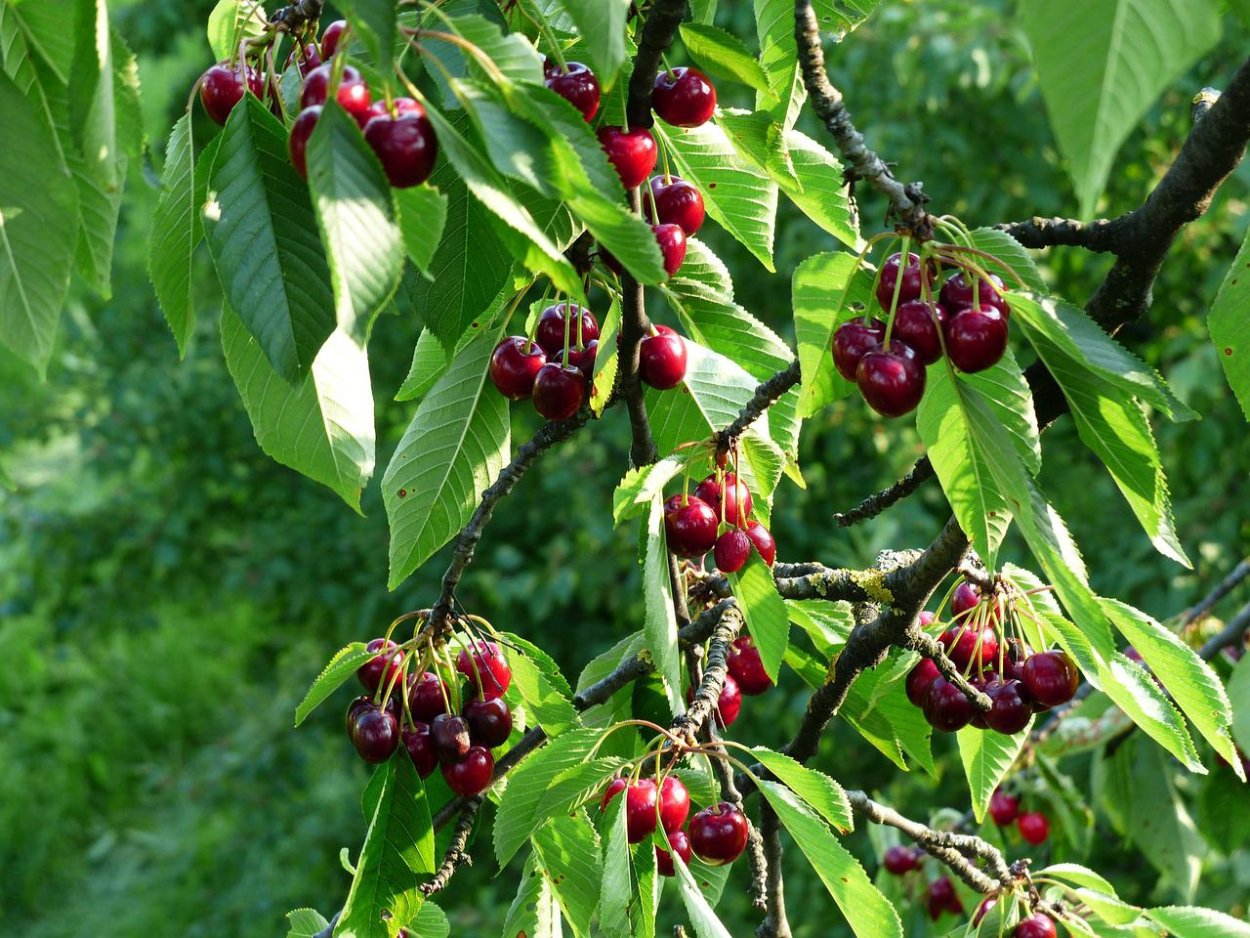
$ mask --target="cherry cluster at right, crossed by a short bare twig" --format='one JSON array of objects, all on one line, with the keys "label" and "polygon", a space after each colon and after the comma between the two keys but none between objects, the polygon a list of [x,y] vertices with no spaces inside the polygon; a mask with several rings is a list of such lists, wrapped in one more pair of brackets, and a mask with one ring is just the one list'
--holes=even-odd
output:
[{"label": "cherry cluster at right, crossed by a short bare twig", "polygon": [[[1008,612],[1000,597],[982,598],[971,583],[960,583],[951,597],[952,622],[938,640],[946,657],[992,705],[981,712],[932,659],[922,658],[908,674],[908,699],[924,710],[934,729],[954,733],[964,727],[1014,735],[1034,713],[1072,699],[1080,684],[1076,664],[1062,650],[1034,652],[1020,638],[1000,640]],[[920,624],[931,625],[932,613]]]}]

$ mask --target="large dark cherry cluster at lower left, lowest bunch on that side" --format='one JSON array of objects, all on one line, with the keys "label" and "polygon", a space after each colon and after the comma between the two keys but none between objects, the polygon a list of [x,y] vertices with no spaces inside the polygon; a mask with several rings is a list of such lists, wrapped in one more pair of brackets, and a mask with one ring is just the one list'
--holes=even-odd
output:
[{"label": "large dark cherry cluster at lower left, lowest bunch on that side", "polygon": [[348,708],[348,737],[360,757],[386,762],[402,743],[421,778],[441,767],[458,794],[485,792],[495,773],[490,750],[512,732],[512,714],[504,700],[512,670],[499,645],[475,639],[471,654],[461,649],[456,670],[466,684],[456,694],[435,672],[406,677],[405,654],[394,642],[376,638],[368,648],[376,654],[360,665],[356,677],[369,694]]}]

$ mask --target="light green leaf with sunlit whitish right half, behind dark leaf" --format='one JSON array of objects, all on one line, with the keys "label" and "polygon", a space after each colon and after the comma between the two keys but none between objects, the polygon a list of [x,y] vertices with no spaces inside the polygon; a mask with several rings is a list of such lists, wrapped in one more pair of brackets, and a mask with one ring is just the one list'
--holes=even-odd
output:
[{"label": "light green leaf with sunlit whitish right half, behind dark leaf", "polygon": [[256,443],[282,465],[319,482],[359,510],[374,474],[374,398],[365,350],[335,331],[296,386],[281,379],[229,306],[221,348]]}]

